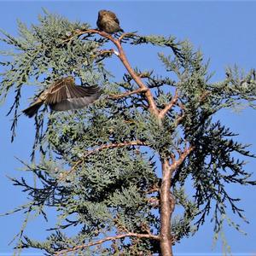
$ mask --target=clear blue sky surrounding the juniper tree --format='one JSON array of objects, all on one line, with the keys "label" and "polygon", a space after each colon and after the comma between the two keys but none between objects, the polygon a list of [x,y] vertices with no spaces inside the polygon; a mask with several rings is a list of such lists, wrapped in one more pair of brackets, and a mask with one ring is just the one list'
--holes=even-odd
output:
[{"label": "clear blue sky surrounding the juniper tree", "polygon": [[[211,58],[210,70],[216,72],[214,81],[224,79],[224,67],[228,65],[236,63],[246,71],[251,67],[256,67],[256,3],[253,2],[9,1],[0,2],[0,27],[9,33],[16,34],[15,20],[20,19],[27,24],[37,22],[38,14],[42,14],[42,7],[50,12],[64,15],[70,20],[89,22],[91,26],[96,26],[99,9],[111,9],[119,16],[121,26],[125,31],[138,31],[145,35],[172,34],[178,39],[189,38],[196,48],[202,50],[206,58]],[[135,49],[134,46],[131,48],[125,46],[125,48],[133,66],[150,69],[158,65],[156,50],[151,48],[148,50],[147,47]],[[3,44],[1,44],[1,49],[3,49]],[[124,69],[120,65],[115,65],[116,63],[118,62],[113,60],[110,68],[120,76]],[[27,105],[26,96],[32,96],[32,92],[26,90],[24,96],[21,107]],[[34,131],[33,121],[21,117],[15,143],[10,143],[11,123],[10,118],[5,116],[10,102],[11,96],[0,108],[0,212],[6,212],[26,202],[25,194],[21,194],[20,189],[14,188],[6,176],[20,176],[17,169],[21,165],[14,156],[22,160],[29,159]],[[240,134],[238,137],[240,142],[253,144],[251,149],[254,153],[256,153],[255,117],[256,112],[252,109],[246,109],[241,113],[228,110],[218,114],[218,118],[224,124]],[[247,170],[255,172],[255,166],[256,160],[250,160]],[[234,197],[241,197],[240,206],[245,209],[245,214],[250,220],[250,224],[242,224],[238,220],[243,230],[247,232],[247,236],[242,236],[236,230],[225,230],[231,250],[233,253],[241,253],[240,255],[255,255],[255,189],[232,186],[230,191]],[[54,218],[54,215],[52,216]],[[22,215],[15,214],[0,218],[0,255],[1,253],[11,254],[12,249],[7,246],[7,243],[20,229],[21,217]],[[49,224],[42,224],[41,220],[30,223],[28,232],[43,239],[44,227],[49,227]],[[219,246],[213,251],[211,247],[212,225],[208,222],[194,237],[185,239],[174,247],[174,252],[177,255],[184,255],[182,253],[211,255],[211,253],[221,252]],[[35,254],[32,253],[32,255]]]}]

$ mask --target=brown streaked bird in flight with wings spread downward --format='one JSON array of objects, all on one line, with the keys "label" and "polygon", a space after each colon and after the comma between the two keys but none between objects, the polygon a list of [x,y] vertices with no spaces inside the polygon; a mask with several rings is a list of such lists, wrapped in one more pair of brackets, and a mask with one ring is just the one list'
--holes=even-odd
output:
[{"label": "brown streaked bird in flight with wings spread downward", "polygon": [[49,108],[55,111],[84,108],[95,102],[100,95],[101,91],[97,86],[78,86],[73,77],[62,78],[41,92],[23,113],[32,118],[43,104],[49,105]]}]

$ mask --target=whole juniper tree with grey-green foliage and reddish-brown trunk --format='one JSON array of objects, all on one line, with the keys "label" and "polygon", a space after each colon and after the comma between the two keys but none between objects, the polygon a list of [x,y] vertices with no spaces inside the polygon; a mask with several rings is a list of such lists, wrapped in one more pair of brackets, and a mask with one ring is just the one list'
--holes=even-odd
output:
[{"label": "whole juniper tree with grey-green foliage and reddish-brown trunk", "polygon": [[[89,108],[42,108],[35,116],[32,159],[21,162],[38,182],[12,178],[29,198],[14,212],[47,220],[54,208],[58,221],[45,241],[22,229],[16,248],[47,255],[172,255],[172,245],[191,236],[207,216],[215,233],[224,221],[239,230],[226,213],[245,218],[226,184],[255,184],[241,160],[254,155],[213,117],[245,102],[255,108],[254,70],[227,68],[225,79],[212,83],[201,52],[172,36],[113,37],[48,13],[38,25],[18,27],[19,37],[3,32],[1,39],[14,50],[3,53],[8,57],[1,61],[0,89],[3,100],[15,90],[12,139],[27,84],[37,85],[38,94],[72,75],[80,84],[101,86],[102,96]],[[131,67],[124,44],[166,48],[169,55],[158,57],[167,75]],[[108,58],[122,63],[123,79],[112,76]],[[188,186],[194,195],[187,195]],[[183,213],[174,216],[176,206]]]}]

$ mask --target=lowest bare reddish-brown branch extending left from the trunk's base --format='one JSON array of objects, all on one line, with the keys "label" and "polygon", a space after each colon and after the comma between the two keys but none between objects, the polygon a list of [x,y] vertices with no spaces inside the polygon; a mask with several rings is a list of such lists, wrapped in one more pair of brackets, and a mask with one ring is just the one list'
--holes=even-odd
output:
[{"label": "lowest bare reddish-brown branch extending left from the trunk's base", "polygon": [[159,236],[154,236],[153,234],[137,234],[137,233],[131,233],[130,232],[130,233],[122,234],[122,235],[118,235],[118,236],[108,236],[108,237],[103,238],[99,241],[91,241],[88,244],[84,244],[84,245],[81,245],[81,246],[61,250],[59,252],[55,252],[54,255],[55,256],[61,256],[61,255],[64,255],[64,254],[66,255],[67,253],[75,252],[79,249],[84,249],[86,247],[92,247],[92,246],[95,246],[95,245],[98,245],[98,244],[102,244],[105,241],[113,241],[113,240],[121,239],[121,238],[124,238],[124,237],[127,237],[127,236],[134,236],[134,237],[137,237],[137,238],[148,238],[148,239],[160,240]]}]

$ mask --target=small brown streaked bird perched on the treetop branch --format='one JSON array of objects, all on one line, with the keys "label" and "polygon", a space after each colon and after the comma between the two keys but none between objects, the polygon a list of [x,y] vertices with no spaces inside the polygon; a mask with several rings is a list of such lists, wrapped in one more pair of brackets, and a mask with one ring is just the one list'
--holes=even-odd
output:
[{"label": "small brown streaked bird perched on the treetop branch", "polygon": [[119,26],[119,19],[117,16],[106,9],[99,11],[97,26],[100,30],[113,34],[115,32],[124,32]]}]

